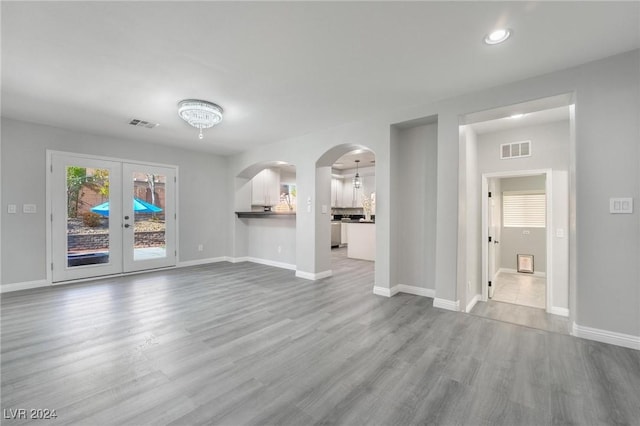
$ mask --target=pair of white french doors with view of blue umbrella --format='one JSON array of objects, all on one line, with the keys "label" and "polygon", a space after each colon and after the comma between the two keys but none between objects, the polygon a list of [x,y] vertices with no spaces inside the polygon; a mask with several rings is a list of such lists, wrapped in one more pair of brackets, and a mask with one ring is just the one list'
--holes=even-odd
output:
[{"label": "pair of white french doors with view of blue umbrella", "polygon": [[175,266],[173,167],[51,153],[52,282]]}]

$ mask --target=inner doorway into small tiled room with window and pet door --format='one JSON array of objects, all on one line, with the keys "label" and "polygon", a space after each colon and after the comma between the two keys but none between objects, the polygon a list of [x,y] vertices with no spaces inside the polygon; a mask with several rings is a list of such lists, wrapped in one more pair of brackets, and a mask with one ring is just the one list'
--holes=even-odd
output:
[{"label": "inner doorway into small tiled room with window and pet door", "polygon": [[482,301],[545,309],[549,249],[547,175],[536,171],[484,174],[486,279]]}]

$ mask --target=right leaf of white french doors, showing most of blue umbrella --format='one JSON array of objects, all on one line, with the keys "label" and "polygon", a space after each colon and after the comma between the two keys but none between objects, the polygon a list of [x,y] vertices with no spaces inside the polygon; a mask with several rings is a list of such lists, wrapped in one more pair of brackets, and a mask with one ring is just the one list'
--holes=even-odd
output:
[{"label": "right leaf of white french doors, showing most of blue umbrella", "polygon": [[124,163],[124,271],[175,266],[175,169]]}]

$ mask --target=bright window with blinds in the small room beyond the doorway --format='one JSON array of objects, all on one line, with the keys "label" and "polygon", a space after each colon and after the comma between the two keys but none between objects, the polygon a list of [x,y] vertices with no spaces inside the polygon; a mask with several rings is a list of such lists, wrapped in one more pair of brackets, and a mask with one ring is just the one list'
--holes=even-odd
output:
[{"label": "bright window with blinds in the small room beyond the doorway", "polygon": [[502,194],[502,223],[505,228],[544,228],[546,209],[544,193],[517,191]]}]

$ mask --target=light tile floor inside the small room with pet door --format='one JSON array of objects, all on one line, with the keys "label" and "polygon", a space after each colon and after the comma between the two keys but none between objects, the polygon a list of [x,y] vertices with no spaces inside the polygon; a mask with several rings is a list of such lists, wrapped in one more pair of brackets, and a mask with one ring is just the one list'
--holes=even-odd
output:
[{"label": "light tile floor inside the small room with pet door", "polygon": [[544,309],[545,288],[544,277],[500,272],[495,279],[492,300]]}]

